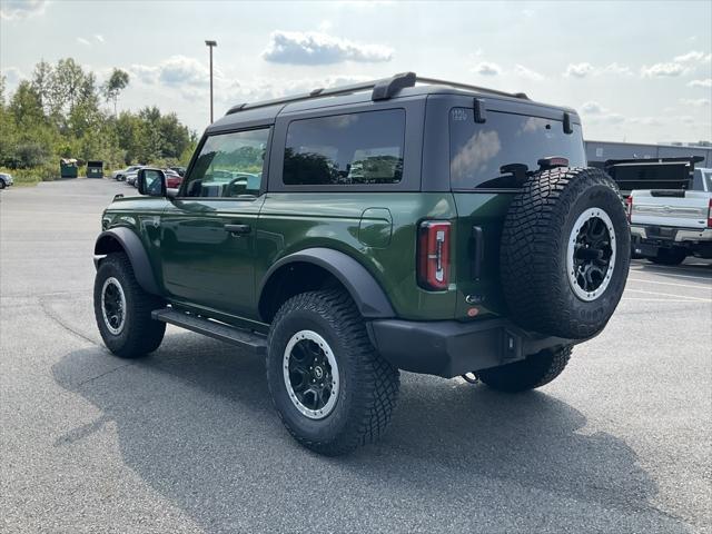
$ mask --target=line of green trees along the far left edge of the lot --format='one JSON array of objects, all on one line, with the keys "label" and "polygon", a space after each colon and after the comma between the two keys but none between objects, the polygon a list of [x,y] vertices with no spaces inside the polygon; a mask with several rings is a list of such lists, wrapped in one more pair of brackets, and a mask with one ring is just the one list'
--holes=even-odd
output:
[{"label": "line of green trees along the far left edge of the lot", "polygon": [[[51,178],[57,160],[69,157],[101,159],[108,167],[186,164],[197,136],[176,113],[162,115],[151,106],[117,115],[117,99],[127,85],[128,75],[113,69],[98,87],[93,73],[71,58],[53,66],[38,62],[30,80],[22,80],[8,99],[0,77],[0,165],[34,168],[38,176]],[[113,101],[113,115],[101,109],[102,99]]]}]

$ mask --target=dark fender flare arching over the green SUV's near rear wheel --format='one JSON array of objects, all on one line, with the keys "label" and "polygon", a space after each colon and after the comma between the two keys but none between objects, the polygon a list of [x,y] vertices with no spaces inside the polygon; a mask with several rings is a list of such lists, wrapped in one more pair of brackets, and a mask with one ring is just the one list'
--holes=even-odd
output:
[{"label": "dark fender flare arching over the green SUV's near rear wheel", "polygon": [[259,285],[258,303],[273,275],[281,267],[294,263],[313,264],[327,270],[346,288],[356,303],[360,315],[366,318],[390,318],[396,314],[380,285],[366,267],[357,260],[333,248],[306,248],[289,254],[273,264]]}]

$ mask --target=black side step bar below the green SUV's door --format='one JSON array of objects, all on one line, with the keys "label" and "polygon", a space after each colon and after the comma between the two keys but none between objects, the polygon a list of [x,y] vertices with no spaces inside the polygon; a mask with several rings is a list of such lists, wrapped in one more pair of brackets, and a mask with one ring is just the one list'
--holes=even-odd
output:
[{"label": "black side step bar below the green SUV's door", "polygon": [[237,345],[255,354],[267,354],[267,338],[265,336],[237,328],[236,326],[217,323],[172,308],[155,309],[151,312],[151,318],[187,330],[197,332],[220,342]]}]

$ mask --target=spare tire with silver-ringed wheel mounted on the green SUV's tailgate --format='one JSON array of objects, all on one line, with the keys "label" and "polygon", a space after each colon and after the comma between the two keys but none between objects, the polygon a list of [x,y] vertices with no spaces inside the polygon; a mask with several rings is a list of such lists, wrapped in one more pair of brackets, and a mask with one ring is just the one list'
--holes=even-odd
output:
[{"label": "spare tire with silver-ringed wheel mounted on the green SUV's tailgate", "polygon": [[621,300],[630,255],[625,208],[603,170],[534,174],[514,197],[502,233],[502,286],[512,319],[551,336],[594,336]]}]

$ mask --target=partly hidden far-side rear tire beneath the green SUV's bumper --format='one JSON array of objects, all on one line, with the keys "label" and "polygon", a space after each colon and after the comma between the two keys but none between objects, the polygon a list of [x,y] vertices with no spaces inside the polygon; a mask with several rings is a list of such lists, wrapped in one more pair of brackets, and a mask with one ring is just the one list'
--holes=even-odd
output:
[{"label": "partly hidden far-side rear tire beneath the green SUV's bumper", "polygon": [[562,374],[572,346],[545,349],[526,359],[477,372],[477,377],[498,392],[518,393],[548,384]]}]

